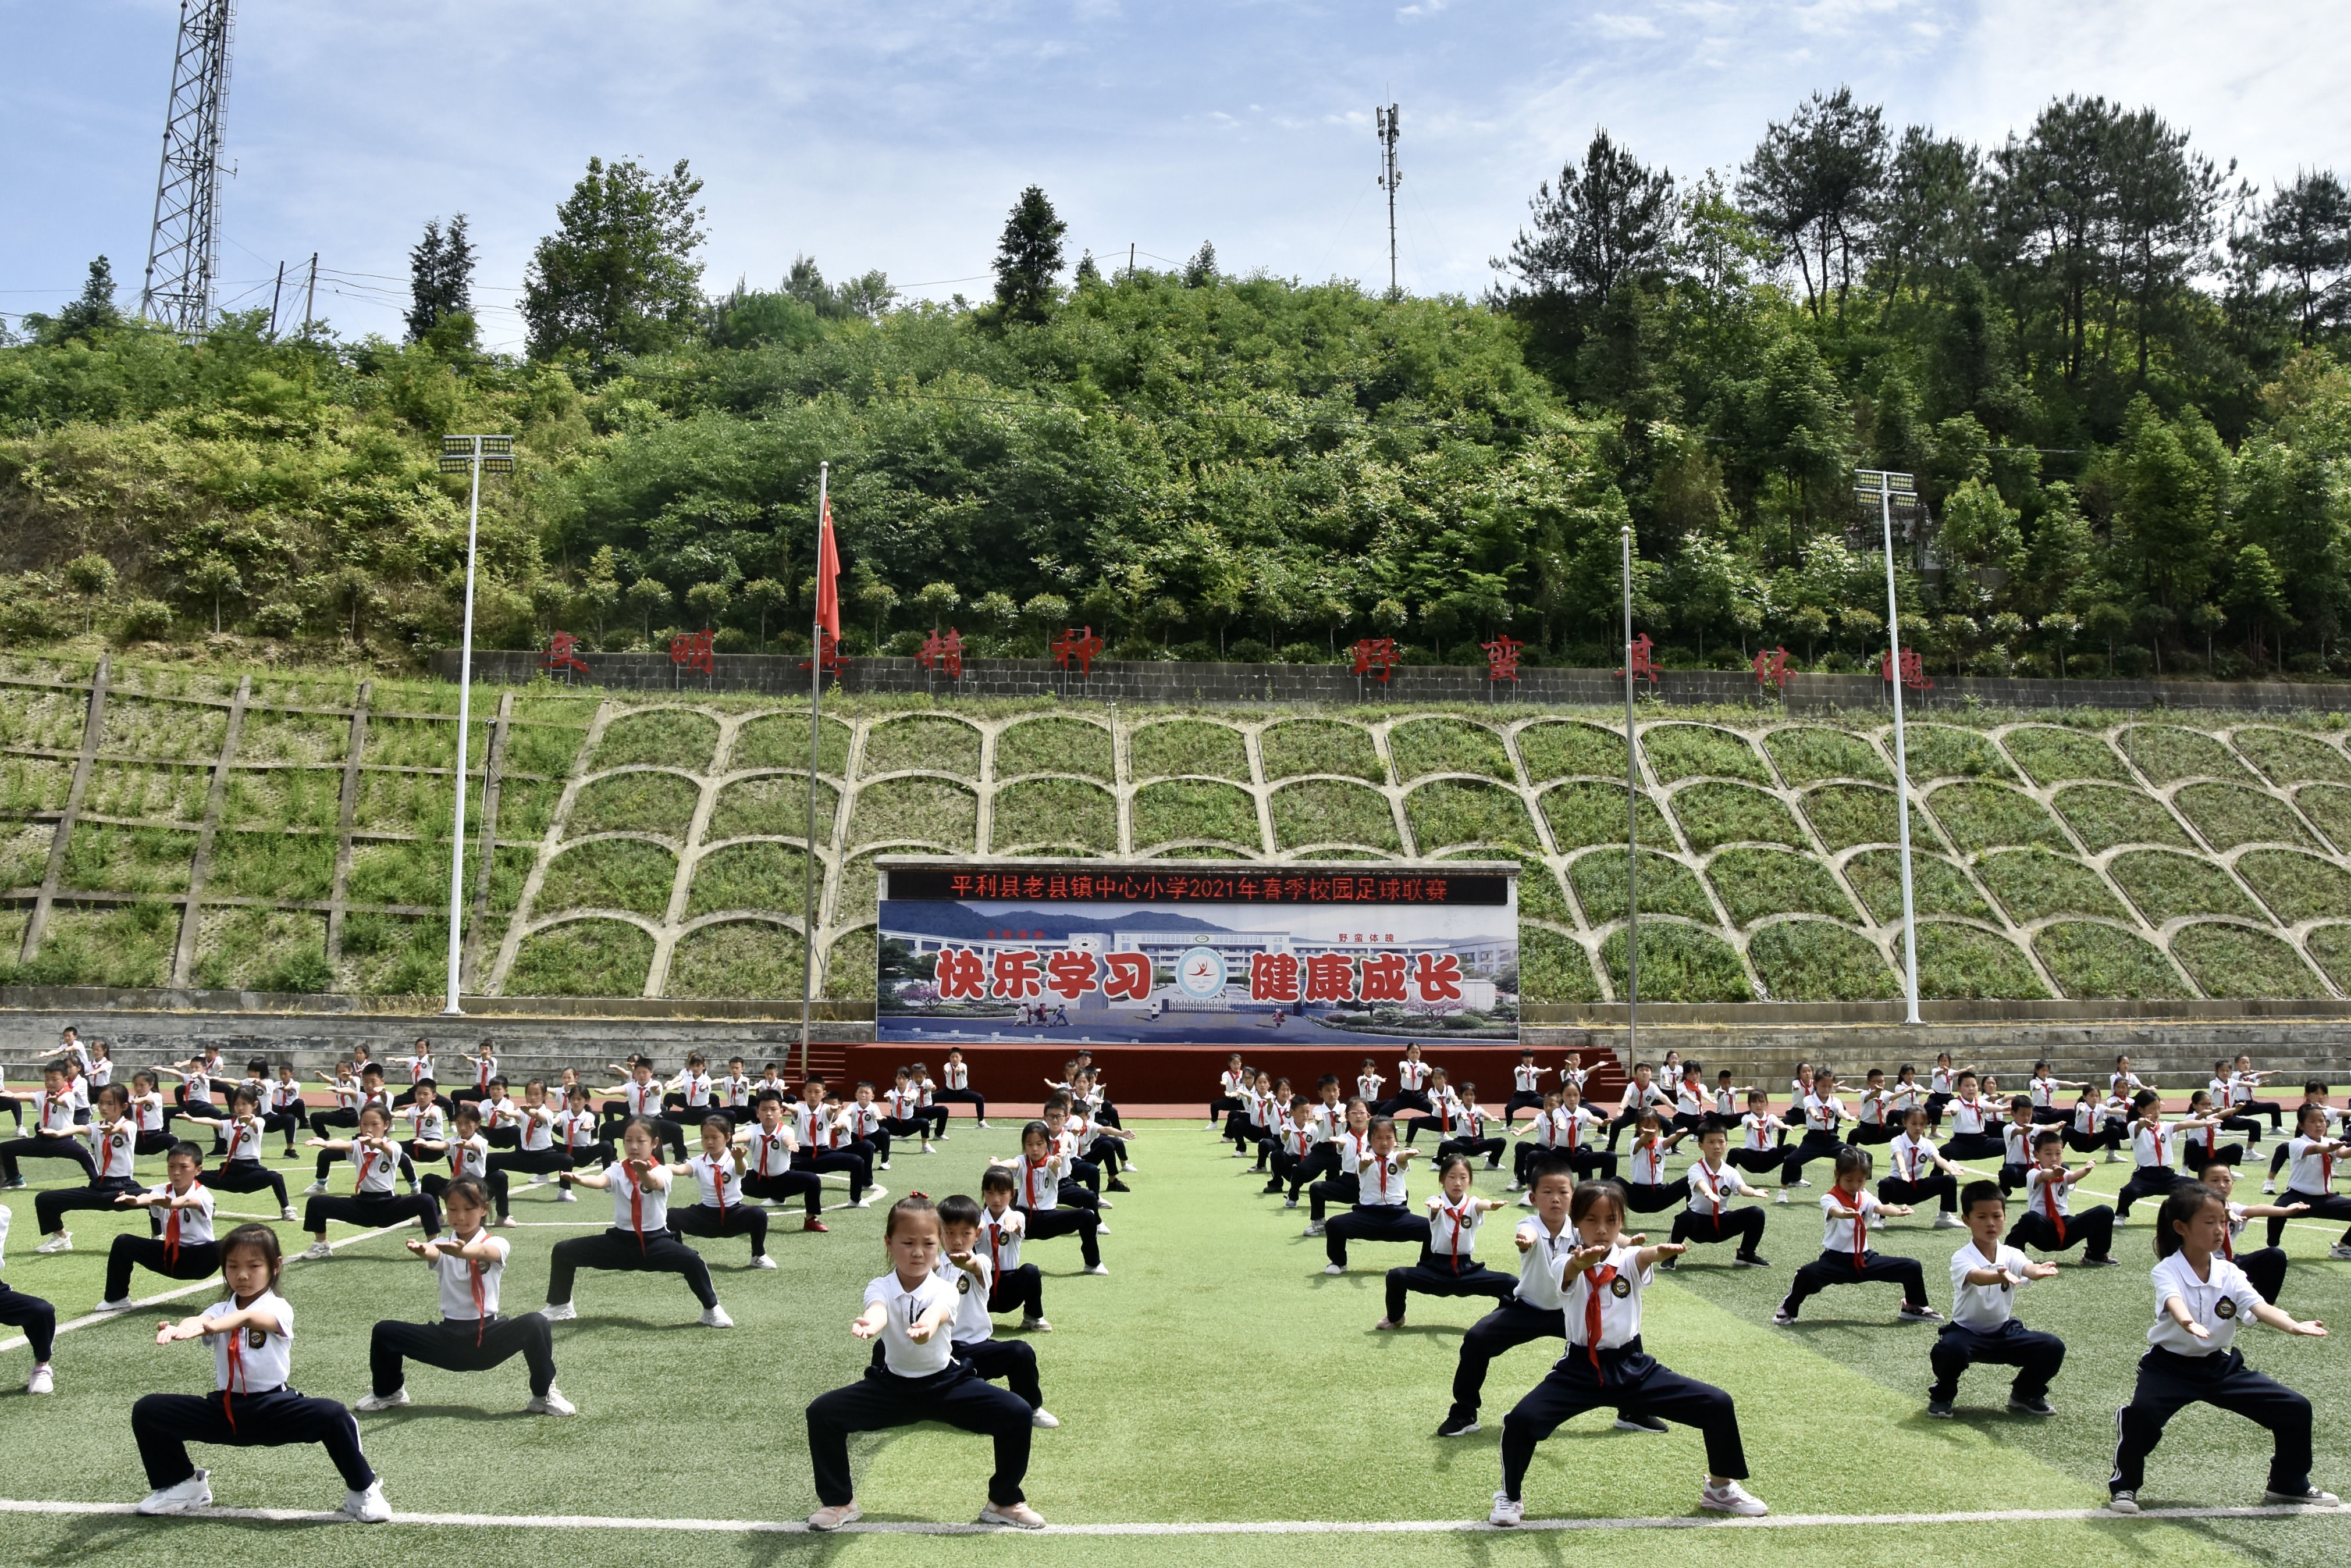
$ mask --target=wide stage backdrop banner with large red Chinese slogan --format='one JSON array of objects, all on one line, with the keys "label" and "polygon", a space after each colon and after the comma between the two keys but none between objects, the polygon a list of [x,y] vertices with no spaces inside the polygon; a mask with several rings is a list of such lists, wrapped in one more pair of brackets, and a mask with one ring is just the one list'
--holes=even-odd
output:
[{"label": "wide stage backdrop banner with large red Chinese slogan", "polygon": [[879,1041],[1514,1041],[1514,863],[882,856]]}]

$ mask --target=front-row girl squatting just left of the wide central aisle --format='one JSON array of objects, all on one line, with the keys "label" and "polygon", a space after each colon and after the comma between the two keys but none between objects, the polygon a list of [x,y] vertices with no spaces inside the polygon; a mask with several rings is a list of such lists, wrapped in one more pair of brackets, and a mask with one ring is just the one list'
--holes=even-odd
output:
[{"label": "front-row girl squatting just left of the wide central aisle", "polygon": [[938,1211],[926,1197],[891,1204],[882,1227],[891,1269],[865,1286],[865,1309],[849,1324],[858,1340],[882,1340],[882,1366],[858,1382],[820,1394],[809,1406],[809,1462],[816,1469],[811,1530],[839,1530],[865,1516],[849,1474],[851,1432],[891,1432],[936,1420],[994,1439],[997,1469],[987,1479],[980,1523],[1044,1528],[1020,1481],[1027,1476],[1030,1408],[1011,1389],[973,1375],[955,1359],[957,1291],[938,1272]]}]

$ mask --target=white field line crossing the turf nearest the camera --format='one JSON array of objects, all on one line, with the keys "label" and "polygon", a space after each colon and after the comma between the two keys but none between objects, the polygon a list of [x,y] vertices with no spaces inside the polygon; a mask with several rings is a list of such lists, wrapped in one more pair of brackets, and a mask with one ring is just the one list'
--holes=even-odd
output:
[{"label": "white field line crossing the turf nearest the camera", "polygon": [[[129,1502],[9,1502],[0,1514],[132,1514]],[[2276,1507],[2151,1507],[2132,1519],[2297,1519],[2337,1509]],[[343,1514],[308,1509],[195,1509],[188,1519],[254,1519],[266,1523],[331,1523]],[[2048,1523],[2106,1521],[2123,1514],[2106,1509],[1989,1509],[1975,1514],[1770,1514],[1766,1519],[1730,1519],[1721,1514],[1676,1514],[1646,1519],[1528,1519],[1519,1530],[1820,1530],[1878,1528],[1921,1523]],[[675,1530],[686,1535],[813,1535],[797,1519],[614,1519],[597,1514],[393,1514],[393,1523],[449,1526],[461,1530]],[[1004,1526],[863,1521],[842,1535],[1004,1535]],[[1500,1535],[1483,1519],[1387,1519],[1387,1521],[1218,1521],[1218,1523],[1049,1523],[1039,1535]]]}]

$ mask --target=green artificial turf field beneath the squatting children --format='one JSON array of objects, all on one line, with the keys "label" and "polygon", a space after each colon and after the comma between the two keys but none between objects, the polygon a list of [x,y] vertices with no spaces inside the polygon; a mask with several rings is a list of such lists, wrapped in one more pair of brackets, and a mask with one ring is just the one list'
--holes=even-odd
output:
[{"label": "green artificial turf field beneath the squatting children", "polygon": [[[1860,1063],[1855,1063],[1860,1065]],[[992,1133],[962,1117],[940,1154],[900,1152],[879,1180],[896,1192],[969,1192],[987,1154],[1013,1147],[1013,1105]],[[275,1140],[273,1140],[275,1147]],[[1486,1385],[1486,1432],[1439,1441],[1460,1331],[1479,1305],[1413,1298],[1408,1326],[1373,1331],[1380,1272],[1411,1262],[1401,1246],[1357,1244],[1352,1272],[1321,1274],[1324,1246],[1300,1237],[1302,1211],[1262,1197],[1244,1161],[1201,1133],[1199,1121],[1143,1124],[1143,1171],[1117,1197],[1103,1239],[1110,1276],[1077,1274],[1074,1241],[1027,1248],[1046,1269],[1051,1335],[1037,1347],[1049,1406],[1063,1418],[1041,1432],[1027,1476],[1030,1500],[1056,1523],[1187,1521],[1451,1521],[1483,1516],[1495,1486],[1495,1429],[1545,1371],[1556,1345],[1495,1361]],[[2259,1150],[2259,1154],[2266,1154]],[[141,1161],[150,1166],[155,1161]],[[306,1166],[308,1161],[303,1161]],[[1679,1171],[1679,1161],[1676,1161]],[[61,1166],[28,1166],[35,1182]],[[2111,1194],[2128,1166],[2097,1166],[2090,1187]],[[1820,1173],[1815,1173],[1815,1180]],[[306,1168],[294,1173],[306,1180]],[[1481,1192],[1505,1197],[1498,1173],[1479,1171]],[[1415,1171],[1415,1199],[1429,1190]],[[1933,1328],[1897,1326],[1890,1286],[1836,1288],[1815,1298],[1796,1328],[1773,1328],[1770,1309],[1789,1272],[1820,1241],[1820,1187],[1787,1208],[1766,1206],[1768,1269],[1730,1269],[1721,1248],[1702,1248],[1646,1295],[1646,1342],[1669,1366],[1723,1385],[1737,1399],[1754,1476],[1751,1490],[1780,1514],[1925,1514],[1982,1509],[2092,1507],[2104,1495],[2111,1410],[2128,1399],[2146,1326],[2146,1265],[2154,1211],[2121,1227],[2121,1269],[2081,1269],[2034,1286],[2020,1316],[2055,1328],[2069,1345],[2048,1422],[2001,1410],[2005,1373],[1972,1371],[1961,1385],[1958,1420],[1923,1410]],[[80,1215],[78,1248],[31,1255],[33,1194],[12,1192],[14,1234],[7,1279],[52,1298],[71,1319],[99,1293],[103,1241],[127,1220]],[[301,1199],[296,1197],[296,1204]],[[2097,1201],[2083,1197],[2083,1204]],[[223,1194],[223,1211],[259,1215],[266,1197]],[[552,1190],[520,1190],[527,1225],[505,1232],[515,1262],[505,1305],[541,1300],[555,1239],[588,1234],[609,1218],[600,1194],[557,1206]],[[1498,1215],[1483,1253],[1505,1262],[1507,1222]],[[865,1347],[849,1333],[858,1291],[884,1269],[884,1206],[832,1211],[830,1234],[778,1225],[781,1269],[750,1272],[743,1241],[701,1241],[731,1333],[694,1326],[696,1307],[670,1276],[581,1274],[581,1319],[557,1326],[560,1387],[581,1406],[574,1422],[520,1415],[520,1366],[491,1373],[409,1371],[416,1403],[360,1418],[369,1460],[402,1512],[463,1512],[513,1519],[797,1519],[811,1505],[802,1408],[818,1392],[858,1375]],[[280,1225],[289,1241],[294,1225]],[[334,1237],[353,1237],[336,1227]],[[2330,1225],[2295,1225],[2285,1307],[2327,1314],[2351,1267],[2325,1262]],[[1883,1253],[1921,1258],[1933,1295],[1947,1305],[1947,1260],[1958,1232],[1928,1229],[1925,1215],[1895,1220],[1876,1237]],[[143,1276],[136,1293],[162,1288]],[[367,1387],[367,1331],[379,1316],[426,1319],[433,1291],[395,1237],[346,1246],[329,1262],[289,1265],[284,1293],[296,1309],[296,1385],[350,1401]],[[193,1312],[209,1293],[169,1307]],[[200,1347],[150,1342],[162,1309],[80,1328],[61,1338],[59,1392],[14,1392],[26,1352],[0,1352],[0,1429],[9,1500],[129,1502],[143,1493],[129,1448],[129,1403],[143,1392],[202,1392],[209,1363]],[[1002,1321],[999,1321],[1002,1324]],[[1002,1328],[1013,1333],[1009,1324]],[[2325,1340],[2288,1340],[2248,1328],[2248,1359],[2302,1389],[2318,1420],[2316,1481],[2342,1488],[2351,1439],[2351,1366]],[[966,1521],[980,1502],[987,1450],[943,1427],[856,1439],[858,1495],[877,1521]],[[339,1483],[315,1448],[207,1448],[214,1495],[230,1507],[331,1507]],[[2196,1408],[2179,1415],[2149,1465],[2151,1505],[2245,1505],[2259,1500],[2266,1439],[2248,1422]],[[1542,1446],[1528,1476],[1531,1516],[1688,1516],[1702,1450],[1676,1427],[1650,1439],[1613,1432],[1587,1415]],[[513,1563],[882,1563],[919,1556],[955,1563],[1338,1563],[1411,1552],[1415,1561],[1488,1568],[1495,1561],[1563,1561],[1594,1552],[1735,1552],[1737,1561],[1923,1561],[1937,1568],[2008,1566],[2020,1559],[2083,1563],[2320,1563],[2339,1561],[2346,1521],[2038,1521],[1911,1523],[1881,1528],[1787,1528],[1700,1537],[1674,1535],[1114,1535],[1070,1540],[675,1535],[604,1530],[456,1530],[440,1526],[270,1526],[237,1521],[141,1521],[129,1516],[14,1516],[12,1561],[26,1563],[190,1563],[261,1556],[273,1568],[423,1563],[496,1554]],[[1084,1554],[1084,1556],[1079,1556]]]}]

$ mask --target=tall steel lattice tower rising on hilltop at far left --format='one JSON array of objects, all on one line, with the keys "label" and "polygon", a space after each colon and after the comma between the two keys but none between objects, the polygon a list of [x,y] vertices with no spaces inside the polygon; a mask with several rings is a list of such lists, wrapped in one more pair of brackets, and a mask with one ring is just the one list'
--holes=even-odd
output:
[{"label": "tall steel lattice tower rising on hilltop at far left", "polygon": [[139,313],[183,339],[212,324],[221,263],[221,106],[235,0],[179,0],[172,103],[162,118],[155,226]]}]

